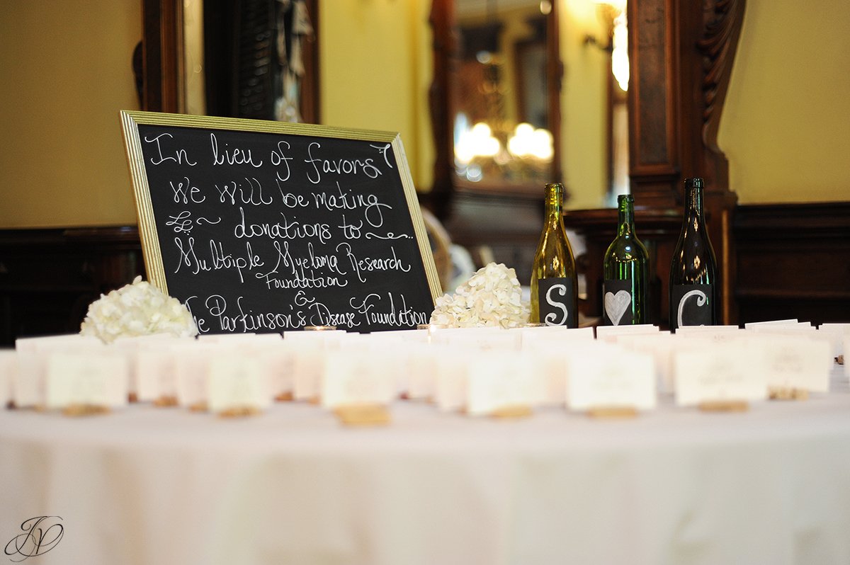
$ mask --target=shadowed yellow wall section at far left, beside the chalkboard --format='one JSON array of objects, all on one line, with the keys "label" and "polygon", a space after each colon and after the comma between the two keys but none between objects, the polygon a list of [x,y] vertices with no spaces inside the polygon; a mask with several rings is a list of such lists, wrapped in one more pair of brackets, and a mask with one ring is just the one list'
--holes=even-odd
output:
[{"label": "shadowed yellow wall section at far left, beside the chalkboard", "polygon": [[138,110],[139,0],[3,3],[0,227],[136,222],[118,111]]}]

